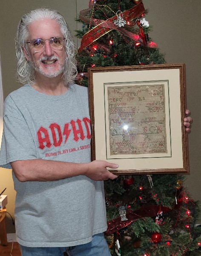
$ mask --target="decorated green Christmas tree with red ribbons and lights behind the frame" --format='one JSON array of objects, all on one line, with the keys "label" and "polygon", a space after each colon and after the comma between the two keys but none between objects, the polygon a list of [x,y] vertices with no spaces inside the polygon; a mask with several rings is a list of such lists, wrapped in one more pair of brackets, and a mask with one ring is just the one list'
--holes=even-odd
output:
[{"label": "decorated green Christmas tree with red ribbons and lights behind the frame", "polygon": [[[77,19],[82,29],[78,80],[88,85],[88,67],[164,64],[149,38],[151,26],[141,0],[90,0]],[[105,182],[112,256],[198,256],[201,227],[198,203],[189,198],[184,176],[120,175]]]}]

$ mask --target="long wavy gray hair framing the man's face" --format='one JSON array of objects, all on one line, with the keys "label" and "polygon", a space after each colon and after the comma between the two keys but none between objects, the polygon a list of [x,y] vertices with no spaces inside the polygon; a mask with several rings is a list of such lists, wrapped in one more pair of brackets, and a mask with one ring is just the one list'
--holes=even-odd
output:
[{"label": "long wavy gray hair framing the man's face", "polygon": [[16,46],[16,56],[17,56],[17,81],[22,84],[29,83],[34,84],[35,75],[32,65],[26,60],[22,47],[27,49],[26,40],[28,39],[29,33],[27,27],[34,21],[42,19],[52,19],[60,25],[61,32],[63,33],[65,41],[66,50],[66,60],[64,63],[64,73],[63,80],[64,84],[67,85],[75,80],[77,75],[75,53],[76,48],[72,40],[72,35],[69,31],[69,27],[64,20],[64,17],[60,15],[56,10],[51,9],[35,9],[25,15],[23,15],[22,20],[18,25],[17,36],[15,38]]}]

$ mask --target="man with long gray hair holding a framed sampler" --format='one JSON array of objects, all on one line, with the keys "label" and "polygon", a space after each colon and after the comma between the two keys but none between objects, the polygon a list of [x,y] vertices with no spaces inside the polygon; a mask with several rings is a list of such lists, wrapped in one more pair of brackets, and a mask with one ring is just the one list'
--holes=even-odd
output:
[{"label": "man with long gray hair holding a framed sampler", "polygon": [[36,9],[22,17],[16,41],[18,80],[27,84],[6,98],[0,165],[13,170],[22,256],[109,256],[103,180],[117,178],[106,168],[118,166],[90,162],[87,89],[72,83],[66,22]]}]

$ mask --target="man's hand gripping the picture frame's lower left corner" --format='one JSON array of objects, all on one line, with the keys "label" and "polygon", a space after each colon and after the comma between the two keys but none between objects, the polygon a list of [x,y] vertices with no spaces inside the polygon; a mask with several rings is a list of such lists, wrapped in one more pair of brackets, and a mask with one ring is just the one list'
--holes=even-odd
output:
[{"label": "man's hand gripping the picture frame's lower left corner", "polygon": [[102,160],[94,160],[89,163],[89,167],[86,170],[85,175],[92,180],[114,180],[118,177],[118,175],[109,172],[108,168],[116,169],[118,168],[118,164],[109,163]]}]

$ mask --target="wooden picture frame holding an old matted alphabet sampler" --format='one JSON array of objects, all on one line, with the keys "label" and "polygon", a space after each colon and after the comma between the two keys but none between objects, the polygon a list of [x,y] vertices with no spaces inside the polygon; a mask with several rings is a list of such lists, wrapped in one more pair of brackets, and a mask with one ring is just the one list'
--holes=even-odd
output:
[{"label": "wooden picture frame holding an old matted alphabet sampler", "polygon": [[118,175],[188,173],[185,64],[93,67],[92,160]]}]

